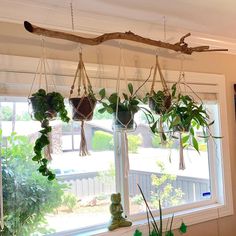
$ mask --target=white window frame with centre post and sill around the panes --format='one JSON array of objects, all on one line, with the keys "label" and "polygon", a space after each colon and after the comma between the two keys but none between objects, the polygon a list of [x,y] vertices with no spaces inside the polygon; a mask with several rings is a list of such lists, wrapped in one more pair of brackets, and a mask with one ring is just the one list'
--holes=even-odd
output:
[{"label": "white window frame with centre post and sill around the panes", "polygon": [[[147,71],[147,70],[146,70]],[[126,68],[127,76],[129,74],[134,73],[133,68]],[[146,72],[144,72],[146,73]],[[177,81],[179,72],[177,71],[165,71],[164,72],[166,78],[168,78],[168,82],[170,84]],[[232,184],[231,184],[231,168],[230,168],[230,152],[229,152],[229,135],[228,135],[228,118],[227,118],[227,104],[226,104],[226,85],[225,85],[225,77],[224,75],[216,75],[216,74],[202,74],[202,73],[193,73],[193,72],[185,72],[186,82],[191,85],[192,89],[195,92],[201,93],[216,93],[218,98],[218,106],[219,106],[219,130],[220,134],[223,136],[223,139],[218,141],[221,145],[221,161],[222,165],[214,165],[215,168],[211,169],[212,172],[217,173],[218,185],[222,186],[222,188],[217,188],[216,190],[216,198],[212,198],[210,200],[196,202],[187,205],[181,205],[175,207],[175,218],[173,228],[179,227],[182,220],[187,225],[197,224],[201,222],[205,222],[208,220],[217,219],[219,217],[224,217],[233,214],[233,198],[232,198]],[[158,83],[157,83],[158,85]],[[160,83],[159,83],[160,87]],[[9,101],[12,101],[9,98]],[[4,101],[8,101],[6,97]],[[224,121],[224,122],[221,122]],[[128,157],[126,156],[127,152],[125,148],[127,148],[127,143],[124,139],[124,133],[119,132],[114,134],[115,140],[115,163],[116,163],[116,187],[117,192],[121,192],[122,201],[124,206],[124,212],[127,214],[129,212],[129,206],[126,204],[129,202],[129,193],[128,193],[128,178],[124,173],[125,166],[127,165]],[[210,147],[211,148],[211,147]],[[213,148],[214,149],[214,148]],[[189,209],[191,206],[191,209]],[[171,216],[173,208],[167,209],[164,211],[165,216]],[[127,214],[128,215],[128,214]],[[132,218],[132,217],[131,217]],[[128,228],[121,228],[113,232],[109,232],[106,226],[94,226],[82,230],[74,230],[66,232],[67,235],[133,235],[136,228],[139,228],[145,233],[147,233],[147,221],[146,216],[142,216],[136,218],[133,222],[133,225]],[[84,234],[83,234],[84,232]],[[55,235],[63,235],[58,233]],[[82,233],[82,234],[81,234]]]}]

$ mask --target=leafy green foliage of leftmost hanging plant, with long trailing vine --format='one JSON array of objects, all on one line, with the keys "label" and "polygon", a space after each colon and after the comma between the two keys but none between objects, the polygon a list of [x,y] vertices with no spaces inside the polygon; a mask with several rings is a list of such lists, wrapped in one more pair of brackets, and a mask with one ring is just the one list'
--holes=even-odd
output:
[{"label": "leafy green foliage of leftmost hanging plant, with long trailing vine", "polygon": [[33,108],[33,117],[41,123],[42,127],[39,131],[40,137],[35,141],[35,155],[32,160],[39,163],[38,171],[42,175],[47,176],[48,180],[53,180],[55,174],[49,170],[48,159],[44,157],[42,151],[50,144],[49,133],[52,131],[52,127],[49,125],[49,121],[57,115],[64,122],[70,120],[65,109],[64,97],[58,92],[47,93],[44,89],[39,89],[31,95],[29,100]]}]

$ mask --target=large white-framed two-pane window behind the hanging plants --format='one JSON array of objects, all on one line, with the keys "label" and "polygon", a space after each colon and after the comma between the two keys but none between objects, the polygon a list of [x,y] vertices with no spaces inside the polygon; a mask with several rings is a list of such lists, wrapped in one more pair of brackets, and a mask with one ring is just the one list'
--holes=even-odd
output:
[{"label": "large white-framed two-pane window behind the hanging plants", "polygon": [[[170,81],[175,81],[176,72],[167,73]],[[64,187],[54,186],[57,195],[63,200],[58,204],[54,202],[55,205],[47,205],[53,209],[45,214],[47,224],[44,226],[49,233],[65,235],[65,232],[71,232],[71,235],[76,235],[78,232],[105,228],[110,219],[110,194],[115,191],[122,193],[124,211],[130,219],[145,219],[145,208],[137,183],[153,209],[157,206],[157,199],[161,198],[164,213],[176,212],[175,219],[184,219],[186,224],[232,214],[227,123],[221,122],[227,120],[224,78],[195,73],[186,73],[186,78],[190,78],[187,82],[192,83],[192,88],[200,94],[212,119],[216,121],[214,133],[224,138],[202,141],[200,154],[191,149],[185,150],[184,171],[178,170],[178,141],[168,143],[168,147],[161,147],[159,138],[150,133],[141,113],[135,116],[137,129],[134,132],[128,132],[127,135],[125,132],[113,134],[112,116],[101,116],[97,112],[98,105],[94,119],[86,123],[87,144],[91,154],[88,157],[78,155],[78,122],[62,124],[57,120],[52,121],[51,168]],[[2,97],[0,105],[3,147],[10,145],[7,137],[12,131],[28,136],[33,143],[40,126],[30,119],[27,102]],[[17,142],[24,143],[24,140]],[[24,167],[21,168],[23,170]],[[36,177],[33,175],[33,178]],[[15,182],[11,186],[14,191],[3,189],[6,206],[13,201],[6,191],[26,191],[23,185],[16,185]],[[48,189],[48,194],[52,189]],[[36,201],[34,196],[31,197],[33,200],[29,201]],[[56,196],[53,199],[57,199]],[[13,212],[16,209],[9,208]],[[127,235],[132,235],[135,227],[126,229]],[[105,233],[106,230],[101,231],[109,235],[109,232]]]}]

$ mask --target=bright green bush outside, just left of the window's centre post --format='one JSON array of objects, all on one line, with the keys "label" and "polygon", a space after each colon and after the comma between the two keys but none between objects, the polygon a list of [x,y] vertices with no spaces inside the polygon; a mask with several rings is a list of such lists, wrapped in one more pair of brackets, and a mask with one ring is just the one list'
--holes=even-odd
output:
[{"label": "bright green bush outside, just left of the window's centre post", "polygon": [[92,138],[92,148],[94,151],[113,150],[113,135],[101,130],[95,131]]}]

